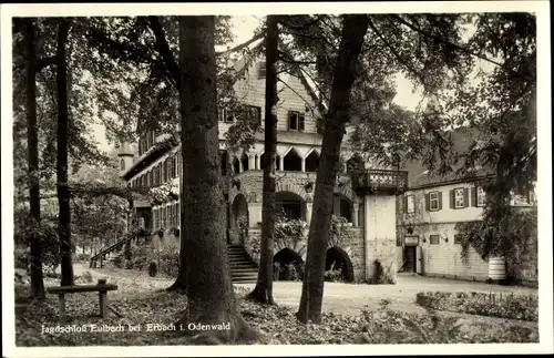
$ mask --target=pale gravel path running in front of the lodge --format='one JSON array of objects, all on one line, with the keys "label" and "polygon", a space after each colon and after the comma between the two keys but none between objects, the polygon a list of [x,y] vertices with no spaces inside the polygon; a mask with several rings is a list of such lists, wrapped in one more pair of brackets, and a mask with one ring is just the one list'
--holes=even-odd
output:
[{"label": "pale gravel path running in front of the lodge", "polygon": [[[86,265],[76,263],[75,275],[90,272],[93,279],[107,278],[110,283],[120,284],[119,293],[151,291],[163,289],[173,284],[173,278],[150,277],[145,270],[131,270],[121,268],[96,268],[91,269]],[[238,285],[246,289],[253,289],[254,284]],[[340,315],[359,315],[365,307],[378,309],[382,299],[390,300],[389,307],[407,313],[424,313],[425,310],[416,305],[416,294],[419,291],[450,291],[450,293],[503,293],[514,295],[536,295],[537,289],[513,286],[488,285],[484,283],[461,282],[442,278],[430,278],[420,276],[399,276],[397,285],[352,285],[340,283],[326,283],[324,290],[324,311],[332,311]],[[274,283],[274,298],[278,305],[298,308],[301,295],[301,283],[276,282]],[[502,324],[506,319],[497,317],[485,317],[459,313],[441,311],[444,316],[454,316],[468,320],[488,321]],[[524,325],[536,325],[536,323],[519,321]]]}]

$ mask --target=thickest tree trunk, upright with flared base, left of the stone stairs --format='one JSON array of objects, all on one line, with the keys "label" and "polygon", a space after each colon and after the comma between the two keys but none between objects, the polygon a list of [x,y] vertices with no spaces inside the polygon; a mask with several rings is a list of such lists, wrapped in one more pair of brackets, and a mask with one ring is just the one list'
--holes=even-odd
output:
[{"label": "thickest tree trunk, upright with flared base, left of the stone stairs", "polygon": [[[177,324],[229,324],[229,330],[204,331],[224,341],[245,341],[257,334],[244,320],[230,283],[225,243],[225,203],[220,191],[215,63],[215,17],[181,17],[183,72],[184,235],[186,241],[186,314]],[[204,333],[201,335],[206,337]],[[198,340],[196,340],[198,342]]]}]

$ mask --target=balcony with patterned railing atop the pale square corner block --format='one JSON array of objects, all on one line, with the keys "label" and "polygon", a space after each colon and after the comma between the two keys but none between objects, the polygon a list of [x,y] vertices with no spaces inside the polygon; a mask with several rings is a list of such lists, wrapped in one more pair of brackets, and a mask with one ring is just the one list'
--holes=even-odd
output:
[{"label": "balcony with patterned railing atop the pale square corner block", "polygon": [[352,190],[358,194],[400,194],[408,188],[408,172],[366,170],[352,173]]}]

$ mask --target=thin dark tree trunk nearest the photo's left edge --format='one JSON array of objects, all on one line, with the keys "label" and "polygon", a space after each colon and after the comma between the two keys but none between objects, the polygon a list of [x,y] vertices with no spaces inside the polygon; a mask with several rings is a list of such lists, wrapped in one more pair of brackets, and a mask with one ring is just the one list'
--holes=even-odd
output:
[{"label": "thin dark tree trunk nearest the photo's left edge", "polygon": [[[34,24],[32,19],[25,21],[27,43],[27,141],[28,141],[28,175],[30,215],[35,225],[40,224],[40,187],[39,187],[39,135],[37,127],[37,53],[34,44]],[[31,296],[43,299],[44,280],[42,275],[41,236],[32,234],[31,245]]]}]

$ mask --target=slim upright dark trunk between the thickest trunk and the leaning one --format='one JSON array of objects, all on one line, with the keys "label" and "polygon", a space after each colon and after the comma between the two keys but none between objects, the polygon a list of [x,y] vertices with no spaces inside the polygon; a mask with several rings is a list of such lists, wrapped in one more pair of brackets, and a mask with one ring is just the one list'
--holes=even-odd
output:
[{"label": "slim upright dark trunk between the thickest trunk and the leaning one", "polygon": [[267,17],[266,32],[266,119],[264,153],[264,193],[261,209],[261,243],[259,272],[256,287],[249,297],[274,305],[274,233],[275,233],[275,156],[277,151],[277,57],[278,17]]}]

